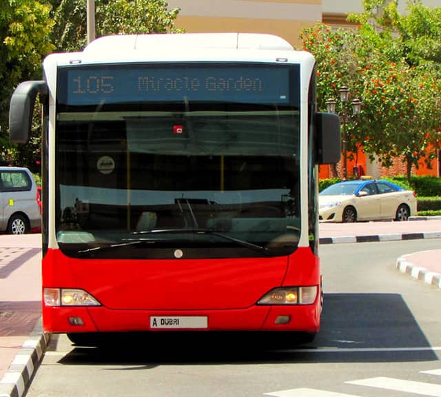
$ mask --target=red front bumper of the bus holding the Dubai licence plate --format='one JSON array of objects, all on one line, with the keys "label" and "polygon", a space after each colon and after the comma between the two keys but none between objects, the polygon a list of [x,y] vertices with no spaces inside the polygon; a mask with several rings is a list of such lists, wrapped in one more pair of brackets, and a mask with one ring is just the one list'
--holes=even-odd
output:
[{"label": "red front bumper of the bus holding the Dubai licence plate", "polygon": [[201,311],[114,310],[106,307],[43,306],[50,333],[149,331],[299,331],[320,327],[319,299],[313,305],[253,306]]}]

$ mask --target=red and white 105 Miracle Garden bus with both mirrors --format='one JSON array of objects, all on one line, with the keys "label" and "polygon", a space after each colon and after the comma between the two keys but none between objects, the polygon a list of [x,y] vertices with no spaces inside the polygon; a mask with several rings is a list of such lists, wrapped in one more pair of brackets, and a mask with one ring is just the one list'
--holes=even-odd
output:
[{"label": "red and white 105 Miracle Garden bus with both mirrors", "polygon": [[43,328],[320,327],[317,176],[340,124],[314,57],[267,34],[101,37],[21,83],[43,103]]}]

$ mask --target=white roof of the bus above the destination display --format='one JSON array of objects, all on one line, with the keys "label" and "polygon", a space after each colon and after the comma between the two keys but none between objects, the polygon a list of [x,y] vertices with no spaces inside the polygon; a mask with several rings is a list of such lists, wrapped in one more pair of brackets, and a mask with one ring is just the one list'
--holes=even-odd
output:
[{"label": "white roof of the bus above the destination display", "polygon": [[300,63],[309,79],[314,57],[281,37],[258,33],[117,34],[89,43],[82,52],[48,55],[46,81],[55,86],[56,68],[70,65],[177,62]]}]

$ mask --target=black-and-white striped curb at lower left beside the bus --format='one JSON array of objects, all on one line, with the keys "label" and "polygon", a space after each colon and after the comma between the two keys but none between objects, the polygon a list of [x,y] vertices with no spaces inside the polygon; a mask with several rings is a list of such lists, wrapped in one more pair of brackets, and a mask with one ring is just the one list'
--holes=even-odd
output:
[{"label": "black-and-white striped curb at lower left beside the bus", "polygon": [[21,350],[15,356],[8,371],[1,378],[0,397],[21,397],[25,394],[48,342],[49,334],[43,332],[40,318],[29,338],[21,346]]}]

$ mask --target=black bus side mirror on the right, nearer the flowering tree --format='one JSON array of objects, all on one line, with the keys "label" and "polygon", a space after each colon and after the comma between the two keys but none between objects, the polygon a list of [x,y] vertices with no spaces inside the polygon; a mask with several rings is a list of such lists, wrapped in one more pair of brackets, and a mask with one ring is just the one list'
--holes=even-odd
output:
[{"label": "black bus side mirror on the right, nearer the flowering tree", "polygon": [[334,113],[316,113],[316,163],[336,164],[341,159],[340,119]]}]

